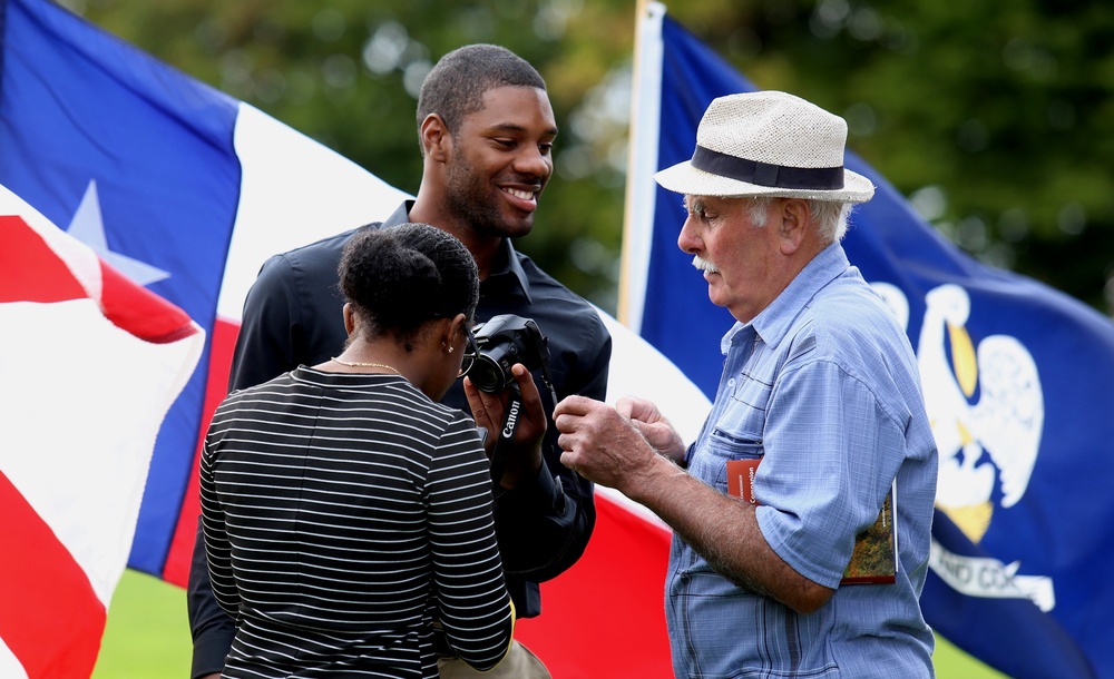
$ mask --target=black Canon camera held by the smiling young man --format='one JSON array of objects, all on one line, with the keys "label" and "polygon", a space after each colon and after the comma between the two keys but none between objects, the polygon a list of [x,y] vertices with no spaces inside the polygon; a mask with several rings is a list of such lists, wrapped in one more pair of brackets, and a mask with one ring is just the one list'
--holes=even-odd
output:
[{"label": "black Canon camera held by the smiling young man", "polygon": [[492,316],[476,326],[476,358],[467,373],[476,388],[497,393],[515,383],[510,366],[549,373],[549,343],[530,318],[512,314]]}]

